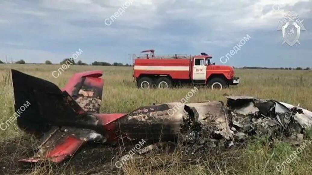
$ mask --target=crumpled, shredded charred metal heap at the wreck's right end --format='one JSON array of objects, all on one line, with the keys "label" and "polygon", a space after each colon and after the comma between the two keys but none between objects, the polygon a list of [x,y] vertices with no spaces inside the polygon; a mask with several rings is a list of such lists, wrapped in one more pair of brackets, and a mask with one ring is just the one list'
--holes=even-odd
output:
[{"label": "crumpled, shredded charred metal heap at the wreck's right end", "polygon": [[289,104],[286,104],[288,106],[286,107],[284,103],[275,100],[253,99],[246,96],[229,96],[227,99],[235,132],[296,138],[312,124],[309,111],[306,110],[304,114],[303,110]]}]

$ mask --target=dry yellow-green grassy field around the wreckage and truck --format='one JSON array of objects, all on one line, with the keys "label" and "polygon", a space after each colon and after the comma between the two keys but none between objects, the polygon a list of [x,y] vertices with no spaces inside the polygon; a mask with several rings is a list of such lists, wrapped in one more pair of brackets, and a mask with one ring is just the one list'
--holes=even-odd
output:
[{"label": "dry yellow-green grassy field around the wreckage and truck", "polygon": [[[76,72],[103,70],[105,84],[101,104],[102,113],[128,113],[136,108],[153,103],[180,101],[193,88],[186,86],[170,90],[137,89],[132,81],[132,67],[72,66],[63,72],[60,77],[54,78],[51,72],[59,67],[60,65],[0,65],[0,123],[8,120],[14,113],[10,69],[17,69],[32,76],[51,81],[59,87],[63,87]],[[312,110],[312,71],[236,69],[236,76],[241,77],[240,85],[221,91],[201,87],[190,102],[204,100],[225,102],[226,99],[222,96],[223,94],[251,95],[294,105],[300,104],[302,108]],[[0,136],[0,156],[2,155],[0,162],[5,161],[0,166],[6,166],[0,167],[1,174],[20,174],[23,172],[26,174],[110,174],[113,171],[113,168],[106,164],[103,165],[101,162],[97,162],[94,167],[86,166],[85,170],[78,170],[72,163],[71,166],[62,166],[62,168],[56,168],[55,165],[42,165],[23,169],[17,166],[16,161],[21,157],[19,153],[22,153],[22,151],[20,150],[26,149],[27,141],[25,141],[25,137],[28,138],[28,136],[25,136],[15,124],[9,126],[5,131],[0,130]],[[28,140],[33,141],[35,139],[30,137]],[[12,149],[8,150],[8,146],[11,146]],[[19,150],[14,150],[14,148]],[[96,149],[93,148],[93,150]],[[276,171],[275,166],[285,161],[295,149],[296,147],[282,141],[271,142],[266,138],[262,138],[247,145],[246,148],[228,151],[221,155],[212,156],[213,154],[207,153],[197,163],[184,161],[185,157],[183,157],[179,149],[170,153],[155,150],[139,159],[129,161],[124,168],[114,170],[114,173],[131,175],[311,174],[312,146],[309,144],[298,156],[299,158],[285,168],[285,171],[282,173]],[[9,153],[12,155],[9,155]]]}]

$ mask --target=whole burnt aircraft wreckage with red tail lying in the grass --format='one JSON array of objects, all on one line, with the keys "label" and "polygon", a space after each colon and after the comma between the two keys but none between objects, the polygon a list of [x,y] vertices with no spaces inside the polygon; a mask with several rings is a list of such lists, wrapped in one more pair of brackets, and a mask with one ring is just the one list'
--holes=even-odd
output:
[{"label": "whole burnt aircraft wreckage with red tail lying in the grass", "polygon": [[55,84],[12,70],[15,109],[31,105],[18,127],[41,145],[21,162],[71,158],[83,145],[173,141],[204,147],[232,147],[254,135],[284,136],[300,142],[312,125],[312,112],[275,100],[225,96],[219,101],[145,106],[131,113],[101,114],[102,71],[77,73],[61,90]]}]

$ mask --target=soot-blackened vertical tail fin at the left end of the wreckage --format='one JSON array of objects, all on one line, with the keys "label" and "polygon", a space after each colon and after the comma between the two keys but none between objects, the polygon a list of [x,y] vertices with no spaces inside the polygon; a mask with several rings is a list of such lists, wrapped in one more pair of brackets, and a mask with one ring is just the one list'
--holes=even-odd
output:
[{"label": "soot-blackened vertical tail fin at the left end of the wreckage", "polygon": [[89,115],[67,92],[55,84],[12,70],[15,110],[29,101],[30,106],[17,118],[18,126],[29,132],[46,132],[54,126],[92,127]]}]

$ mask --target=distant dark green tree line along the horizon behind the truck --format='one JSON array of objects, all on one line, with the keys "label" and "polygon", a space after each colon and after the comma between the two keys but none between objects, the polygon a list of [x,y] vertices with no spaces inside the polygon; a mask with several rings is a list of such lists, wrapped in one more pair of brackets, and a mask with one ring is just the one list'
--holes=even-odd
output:
[{"label": "distant dark green tree line along the horizon behind the truck", "polygon": [[[65,58],[62,62],[60,62],[60,64],[66,64],[66,61],[70,61],[70,62],[72,62],[72,64],[73,65],[80,65],[80,66],[89,66],[89,64],[87,64],[87,63],[84,63],[84,62],[82,62],[81,60],[79,60],[78,62],[75,62],[75,60],[70,60],[69,58]],[[0,60],[0,64],[4,64],[5,62],[2,62],[1,60]],[[26,62],[24,61],[24,60],[19,60],[19,61],[17,61],[17,62],[15,62],[15,64],[26,64]],[[47,65],[52,65],[53,63],[50,61],[50,60],[46,60],[45,61],[45,64],[47,64]],[[97,62],[97,61],[95,61],[95,62],[92,62],[91,64],[90,64],[90,66],[132,66],[131,64],[123,64],[123,63],[120,63],[120,62],[114,62],[113,64],[111,64],[111,63],[108,63],[108,62]],[[234,68],[236,68],[236,69],[274,69],[274,70],[276,70],[276,69],[280,69],[280,70],[311,70],[311,68],[310,67],[307,67],[307,68],[302,68],[302,67],[296,67],[296,68],[292,68],[292,67],[280,67],[280,68],[278,68],[278,67],[234,67]]]}]

